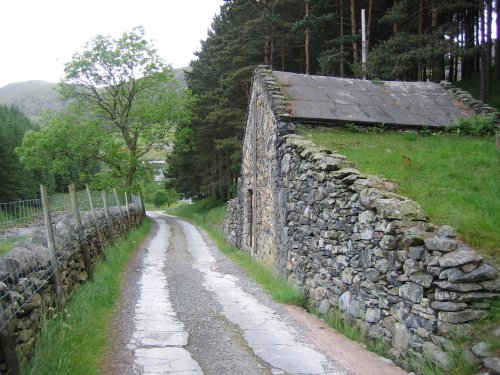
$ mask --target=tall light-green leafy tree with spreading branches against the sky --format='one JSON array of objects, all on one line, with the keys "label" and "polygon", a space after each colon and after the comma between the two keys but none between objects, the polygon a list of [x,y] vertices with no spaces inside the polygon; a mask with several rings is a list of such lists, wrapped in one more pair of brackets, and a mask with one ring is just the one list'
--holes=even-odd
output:
[{"label": "tall light-green leafy tree with spreading branches against the sky", "polygon": [[125,187],[132,185],[141,157],[189,121],[189,94],[144,39],[142,27],[116,40],[98,35],[73,55],[65,73],[62,93],[85,117],[77,126],[91,138],[89,157],[104,163]]}]

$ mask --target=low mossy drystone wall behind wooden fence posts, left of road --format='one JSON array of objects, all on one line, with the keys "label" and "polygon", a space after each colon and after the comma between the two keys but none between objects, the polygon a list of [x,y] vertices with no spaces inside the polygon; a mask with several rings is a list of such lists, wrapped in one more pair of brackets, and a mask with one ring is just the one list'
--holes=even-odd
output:
[{"label": "low mossy drystone wall behind wooden fence posts, left of road", "polygon": [[[130,221],[125,211],[110,208],[111,226],[108,226],[103,210],[97,211],[99,231],[105,245],[113,238],[120,237],[125,227],[136,227],[143,219],[143,211],[129,206]],[[56,251],[59,259],[59,270],[62,277],[64,295],[70,297],[76,287],[88,279],[81,252],[86,243],[92,264],[95,265],[99,256],[100,243],[96,226],[89,213],[82,213],[84,236],[78,236],[72,215],[63,215],[54,222]],[[127,221],[125,221],[127,220]],[[125,223],[129,225],[126,226]],[[111,231],[109,230],[111,229]],[[86,240],[82,240],[82,237]],[[8,323],[15,350],[20,362],[29,360],[34,354],[37,337],[42,327],[43,319],[50,316],[50,311],[57,311],[56,294],[52,279],[48,279],[49,250],[45,227],[40,225],[26,241],[1,258],[0,262],[0,296],[2,311],[18,310]],[[15,286],[15,287],[14,287]],[[24,306],[23,306],[24,305]],[[0,351],[0,373],[6,373],[3,353]]]}]

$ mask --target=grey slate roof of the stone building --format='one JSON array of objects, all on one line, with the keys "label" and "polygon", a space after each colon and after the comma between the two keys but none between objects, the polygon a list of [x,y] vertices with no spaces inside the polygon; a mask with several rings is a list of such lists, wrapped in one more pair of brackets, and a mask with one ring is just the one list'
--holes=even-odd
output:
[{"label": "grey slate roof of the stone building", "polygon": [[374,83],[279,71],[272,75],[291,107],[291,117],[305,122],[442,127],[469,116],[437,83]]}]

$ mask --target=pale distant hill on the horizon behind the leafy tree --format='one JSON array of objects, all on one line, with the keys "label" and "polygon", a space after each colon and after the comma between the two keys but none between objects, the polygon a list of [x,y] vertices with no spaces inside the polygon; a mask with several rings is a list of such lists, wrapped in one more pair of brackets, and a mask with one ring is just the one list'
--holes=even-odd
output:
[{"label": "pale distant hill on the horizon behind the leafy tree", "polygon": [[[175,78],[186,85],[184,70],[190,67],[173,69]],[[0,104],[18,107],[26,116],[35,120],[40,113],[49,109],[59,111],[66,106],[57,91],[58,83],[46,81],[25,81],[11,83],[0,88]]]}]

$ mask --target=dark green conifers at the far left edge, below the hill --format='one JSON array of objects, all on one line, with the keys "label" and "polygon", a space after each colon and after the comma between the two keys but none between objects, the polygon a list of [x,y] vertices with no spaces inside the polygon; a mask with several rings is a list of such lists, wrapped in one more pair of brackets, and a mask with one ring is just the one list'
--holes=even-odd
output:
[{"label": "dark green conifers at the far left edge, below the hill", "polygon": [[18,109],[0,105],[0,202],[36,196],[35,175],[27,171],[15,153],[23,135],[36,126]]}]

